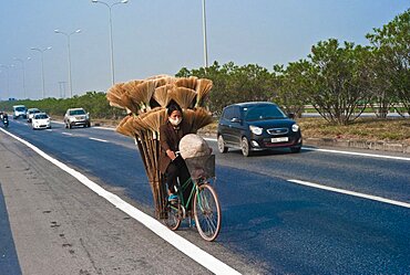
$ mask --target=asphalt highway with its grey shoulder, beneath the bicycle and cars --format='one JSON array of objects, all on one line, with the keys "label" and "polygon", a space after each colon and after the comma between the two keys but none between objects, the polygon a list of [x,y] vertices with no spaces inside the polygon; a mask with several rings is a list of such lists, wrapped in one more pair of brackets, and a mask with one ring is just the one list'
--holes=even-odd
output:
[{"label": "asphalt highway with its grey shoulder, beneath the bicycle and cars", "polygon": [[[11,121],[8,131],[153,215],[151,190],[130,138],[100,128],[68,130],[60,124],[53,124],[52,130],[33,131],[22,120]],[[70,274],[75,268],[78,274],[209,273],[204,263],[192,261],[103,198],[74,184],[75,179],[40,160],[31,149],[24,149],[3,133],[0,137],[4,154],[22,151],[20,161],[35,159],[24,161],[28,170],[17,169],[14,173],[35,173],[48,187],[47,193],[52,194],[42,198],[44,203],[51,200],[60,209],[54,222],[59,224],[61,216],[58,218],[63,213],[62,219],[70,224],[71,241],[66,244],[71,246],[65,247],[76,247],[79,256],[73,263],[61,254],[66,273],[59,274]],[[209,144],[216,151],[216,144]],[[10,147],[16,150],[10,151]],[[177,234],[243,274],[410,274],[410,157],[355,152],[359,155],[316,148],[304,148],[300,154],[257,152],[250,158],[243,158],[239,151],[216,154],[216,189],[223,208],[221,235],[217,242],[206,243],[187,226]],[[33,255],[48,253],[43,253],[44,244],[39,242],[33,243],[39,247],[30,247],[31,257],[23,253],[21,240],[27,241],[30,231],[22,232],[16,224],[21,224],[19,216],[30,209],[14,207],[16,212],[10,213],[11,205],[22,202],[13,202],[19,195],[3,178],[0,176],[8,215],[1,200],[0,215],[3,212],[10,220],[9,233],[2,233],[9,235],[8,241],[0,239],[10,251],[10,257],[3,262],[9,268],[30,274],[24,271],[34,266]],[[84,218],[80,212],[88,214]],[[90,224],[95,225],[86,230]],[[47,237],[53,240],[45,233],[43,237],[44,242]],[[135,256],[139,253],[144,261]],[[57,268],[52,263],[48,266],[49,271]]]}]

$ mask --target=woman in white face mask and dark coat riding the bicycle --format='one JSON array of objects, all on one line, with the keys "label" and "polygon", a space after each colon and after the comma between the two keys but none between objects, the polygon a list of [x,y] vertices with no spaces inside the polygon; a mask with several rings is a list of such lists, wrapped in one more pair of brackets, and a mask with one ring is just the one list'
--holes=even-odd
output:
[{"label": "woman in white face mask and dark coat riding the bicycle", "polygon": [[177,157],[180,140],[187,134],[192,134],[192,126],[183,119],[182,109],[178,105],[172,104],[167,109],[168,120],[160,127],[160,171],[165,174],[168,186],[168,201],[175,201],[176,178],[181,183],[189,179],[189,172],[184,160]]}]

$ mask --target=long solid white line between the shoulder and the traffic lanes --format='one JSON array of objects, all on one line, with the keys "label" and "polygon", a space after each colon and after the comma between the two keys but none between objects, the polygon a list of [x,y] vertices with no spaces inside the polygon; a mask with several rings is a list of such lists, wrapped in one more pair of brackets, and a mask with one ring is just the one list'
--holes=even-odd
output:
[{"label": "long solid white line between the shoulder and the traffic lanes", "polygon": [[187,240],[183,239],[182,236],[180,236],[175,232],[168,230],[160,221],[157,221],[154,218],[145,214],[144,212],[142,212],[139,209],[131,205],[130,203],[123,201],[116,194],[113,194],[113,193],[106,191],[105,189],[103,189],[102,187],[96,184],[95,182],[91,181],[84,174],[82,174],[82,173],[78,172],[76,170],[68,167],[63,162],[50,157],[49,155],[47,155],[45,152],[40,150],[38,147],[31,145],[30,142],[28,142],[28,141],[17,137],[17,136],[14,136],[13,134],[11,134],[7,130],[3,130],[2,128],[0,128],[0,130],[2,130],[4,134],[9,135],[10,137],[19,140],[20,142],[22,142],[27,147],[31,148],[33,151],[35,151],[41,157],[49,160],[50,162],[52,162],[53,165],[55,165],[57,167],[59,167],[63,171],[73,176],[81,183],[83,183],[84,186],[90,188],[92,191],[94,191],[95,193],[98,193],[99,195],[101,195],[102,198],[104,198],[105,200],[111,202],[112,204],[114,204],[117,209],[122,210],[123,212],[125,212],[130,216],[134,218],[135,220],[137,220],[139,222],[144,224],[147,229],[150,229],[152,232],[157,234],[164,241],[166,241],[170,244],[172,244],[173,246],[175,246],[182,253],[184,253],[185,255],[187,255],[188,257],[191,257],[192,260],[194,260],[195,262],[197,262],[198,264],[201,264],[202,266],[204,266],[208,271],[211,271],[215,274],[224,274],[224,275],[225,274],[240,274],[237,271],[235,271],[234,268],[232,268],[230,266],[228,266],[227,264],[225,264],[224,262],[217,260],[215,256],[208,254],[207,252],[203,251],[202,248],[199,248],[195,244],[193,244],[193,243],[188,242]]}]

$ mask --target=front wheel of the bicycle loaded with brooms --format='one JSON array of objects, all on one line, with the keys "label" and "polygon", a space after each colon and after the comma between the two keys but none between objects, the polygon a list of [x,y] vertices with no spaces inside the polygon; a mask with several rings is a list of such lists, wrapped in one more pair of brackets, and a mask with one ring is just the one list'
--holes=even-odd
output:
[{"label": "front wheel of the bicycle loaded with brooms", "polygon": [[201,186],[194,197],[194,215],[201,236],[214,241],[221,230],[222,212],[218,197],[207,183]]}]

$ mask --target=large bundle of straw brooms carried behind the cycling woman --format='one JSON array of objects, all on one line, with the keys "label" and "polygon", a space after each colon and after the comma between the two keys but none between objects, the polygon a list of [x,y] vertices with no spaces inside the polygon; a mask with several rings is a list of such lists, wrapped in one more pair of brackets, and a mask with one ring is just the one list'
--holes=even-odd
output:
[{"label": "large bundle of straw brooms carried behind the cycling woman", "polygon": [[160,126],[167,120],[166,108],[180,105],[184,119],[196,133],[213,121],[205,109],[212,81],[206,78],[158,75],[143,81],[130,81],[112,86],[106,98],[111,106],[124,108],[127,116],[116,131],[135,139],[148,178],[155,203],[155,214],[163,216],[166,188],[158,169]]}]

